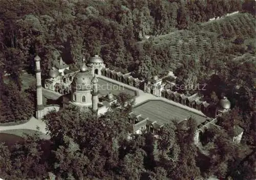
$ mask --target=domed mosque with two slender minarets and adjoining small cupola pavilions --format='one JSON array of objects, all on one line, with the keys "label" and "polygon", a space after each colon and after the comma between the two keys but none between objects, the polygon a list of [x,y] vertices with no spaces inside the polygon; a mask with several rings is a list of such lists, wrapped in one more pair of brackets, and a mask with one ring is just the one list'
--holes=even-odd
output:
[{"label": "domed mosque with two slender minarets and adjoining small cupola pavilions", "polygon": [[[40,68],[40,58],[36,56],[36,72],[37,82],[41,82],[41,74],[38,70]],[[53,63],[52,68],[49,70],[48,77],[44,81],[44,90],[48,94],[58,94],[62,99],[62,106],[69,105],[78,106],[80,108],[90,109],[93,112],[104,113],[110,107],[109,99],[106,98],[103,102],[98,99],[98,78],[97,74],[101,73],[104,68],[103,59],[98,55],[90,58],[89,62],[83,57],[79,70],[72,71],[69,66],[59,58],[59,61]],[[38,86],[39,87],[39,86]],[[38,90],[42,91],[41,89]],[[108,96],[107,94],[106,96]],[[52,108],[48,106],[48,111],[44,110],[42,106],[42,93],[37,93],[37,101],[39,101],[37,110],[37,118],[42,118]],[[108,102],[108,103],[106,103]],[[112,101],[111,101],[112,102]]]}]

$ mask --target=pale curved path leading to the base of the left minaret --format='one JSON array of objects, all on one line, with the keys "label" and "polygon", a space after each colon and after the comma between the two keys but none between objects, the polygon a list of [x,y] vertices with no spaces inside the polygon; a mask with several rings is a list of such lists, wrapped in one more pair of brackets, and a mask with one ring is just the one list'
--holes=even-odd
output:
[{"label": "pale curved path leading to the base of the left minaret", "polygon": [[46,134],[46,124],[41,120],[36,119],[35,117],[31,117],[27,123],[14,125],[14,126],[0,126],[0,132],[5,130],[13,130],[13,129],[30,129],[34,131],[40,131],[41,133]]}]

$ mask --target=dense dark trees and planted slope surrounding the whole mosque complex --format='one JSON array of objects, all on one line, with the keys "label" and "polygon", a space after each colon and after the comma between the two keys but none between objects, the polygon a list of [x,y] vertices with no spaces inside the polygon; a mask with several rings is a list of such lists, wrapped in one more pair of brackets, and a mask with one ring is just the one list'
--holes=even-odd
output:
[{"label": "dense dark trees and planted slope surrounding the whole mosque complex", "polygon": [[[35,134],[13,147],[0,145],[0,177],[255,178],[255,153],[241,157],[243,146],[256,144],[255,1],[0,0],[0,5],[1,123],[33,115],[35,87],[24,90],[21,76],[24,70],[34,73],[36,54],[43,76],[60,56],[77,68],[82,53],[87,59],[99,54],[107,67],[134,71],[139,78],[174,70],[177,84],[207,84],[201,92],[207,102],[218,104],[225,95],[233,108],[219,119],[224,128],[209,132],[214,150],[208,156],[193,145],[193,119],[188,131],[176,124],[163,127],[161,141],[148,133],[128,141],[132,104],[97,119],[74,107],[52,112],[46,117],[49,141]],[[234,11],[241,13],[208,22]],[[120,99],[121,105],[131,100]],[[228,133],[234,124],[244,129],[241,145]]]}]

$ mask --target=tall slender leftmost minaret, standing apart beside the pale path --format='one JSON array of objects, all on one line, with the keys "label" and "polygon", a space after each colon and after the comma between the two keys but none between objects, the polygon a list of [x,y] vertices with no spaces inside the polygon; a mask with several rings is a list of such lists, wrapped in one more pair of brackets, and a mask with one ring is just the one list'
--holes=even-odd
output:
[{"label": "tall slender leftmost minaret, standing apart beside the pale path", "polygon": [[41,69],[40,57],[35,56],[35,75],[36,75],[36,118],[41,119],[44,116],[44,105],[42,105],[42,85],[41,85]]}]

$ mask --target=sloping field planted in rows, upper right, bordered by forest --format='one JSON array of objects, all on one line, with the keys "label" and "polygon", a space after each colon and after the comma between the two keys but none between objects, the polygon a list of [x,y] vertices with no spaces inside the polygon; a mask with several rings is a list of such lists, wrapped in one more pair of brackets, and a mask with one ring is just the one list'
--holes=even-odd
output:
[{"label": "sloping field planted in rows, upper right, bordered by forest", "polygon": [[[190,30],[178,30],[153,37],[153,49],[166,53],[169,61],[176,66],[184,57],[197,61],[209,51],[215,54],[224,52],[227,47],[233,46],[232,42],[236,37],[245,39],[244,45],[251,44],[255,38],[254,27],[255,18],[251,14],[238,13],[217,21],[202,23]],[[224,33],[229,33],[232,38],[223,38]],[[144,42],[146,41],[140,44],[143,45]],[[225,52],[225,55],[236,57],[236,54],[231,52]]]}]

